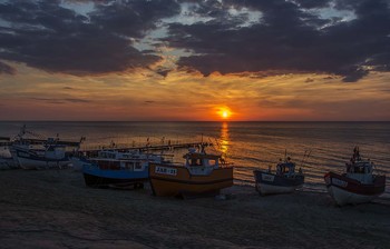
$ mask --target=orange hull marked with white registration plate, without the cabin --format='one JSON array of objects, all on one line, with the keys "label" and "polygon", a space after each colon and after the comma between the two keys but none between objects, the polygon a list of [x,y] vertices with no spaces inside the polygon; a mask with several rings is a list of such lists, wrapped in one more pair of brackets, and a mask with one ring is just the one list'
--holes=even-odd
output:
[{"label": "orange hull marked with white registration plate, without the cabin", "polygon": [[155,196],[213,196],[233,186],[233,168],[218,168],[207,176],[193,176],[185,167],[150,163],[149,178]]}]

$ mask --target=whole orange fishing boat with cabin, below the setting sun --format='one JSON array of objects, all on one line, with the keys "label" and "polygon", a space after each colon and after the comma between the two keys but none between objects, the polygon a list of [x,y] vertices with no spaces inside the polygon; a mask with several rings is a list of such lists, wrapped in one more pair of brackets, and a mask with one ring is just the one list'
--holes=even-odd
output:
[{"label": "whole orange fishing boat with cabin, below the setting sun", "polygon": [[150,163],[150,187],[155,196],[191,197],[218,195],[233,186],[233,167],[222,156],[191,148],[185,163]]}]

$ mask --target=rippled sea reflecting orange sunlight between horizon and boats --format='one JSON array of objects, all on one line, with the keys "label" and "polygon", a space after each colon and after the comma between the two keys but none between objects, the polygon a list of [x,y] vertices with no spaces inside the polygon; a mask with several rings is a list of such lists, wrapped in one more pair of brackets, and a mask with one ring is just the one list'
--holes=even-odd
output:
[{"label": "rippled sea reflecting orange sunlight between horizon and boats", "polygon": [[[287,155],[305,172],[304,190],[324,191],[323,175],[342,171],[354,146],[388,176],[390,195],[390,122],[0,122],[0,136],[14,137],[22,124],[43,137],[87,140],[84,148],[207,141],[235,165],[238,185],[253,185],[252,171],[274,167]],[[303,156],[310,157],[303,160]],[[174,151],[182,161],[185,150]]]}]

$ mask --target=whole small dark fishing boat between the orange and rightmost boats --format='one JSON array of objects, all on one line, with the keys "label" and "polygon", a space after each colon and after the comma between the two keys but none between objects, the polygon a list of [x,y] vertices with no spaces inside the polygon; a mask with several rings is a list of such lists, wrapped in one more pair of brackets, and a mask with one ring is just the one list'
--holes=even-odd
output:
[{"label": "whole small dark fishing boat between the orange and rightmost boats", "polygon": [[300,168],[295,171],[295,163],[290,157],[280,160],[276,170],[254,170],[255,188],[262,196],[275,193],[291,193],[304,183],[304,175]]}]

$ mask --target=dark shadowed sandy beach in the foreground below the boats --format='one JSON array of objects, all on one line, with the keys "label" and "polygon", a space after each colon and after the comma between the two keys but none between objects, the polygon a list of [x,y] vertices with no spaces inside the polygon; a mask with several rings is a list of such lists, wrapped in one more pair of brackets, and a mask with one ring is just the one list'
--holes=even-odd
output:
[{"label": "dark shadowed sandy beach in the foreground below the boats", "polygon": [[80,172],[0,171],[1,248],[390,248],[390,206],[326,193],[179,200],[91,189]]}]

